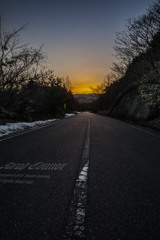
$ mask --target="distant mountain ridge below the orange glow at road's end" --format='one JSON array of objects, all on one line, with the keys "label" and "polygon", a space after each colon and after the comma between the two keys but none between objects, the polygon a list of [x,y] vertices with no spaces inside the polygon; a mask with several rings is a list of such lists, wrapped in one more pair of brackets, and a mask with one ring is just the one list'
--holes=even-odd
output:
[{"label": "distant mountain ridge below the orange glow at road's end", "polygon": [[74,98],[80,104],[92,103],[97,100],[97,94],[75,94]]}]

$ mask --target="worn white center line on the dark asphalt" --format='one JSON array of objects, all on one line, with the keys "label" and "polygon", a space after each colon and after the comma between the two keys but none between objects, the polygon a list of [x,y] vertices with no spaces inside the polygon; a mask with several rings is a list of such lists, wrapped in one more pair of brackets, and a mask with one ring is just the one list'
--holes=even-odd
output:
[{"label": "worn white center line on the dark asphalt", "polygon": [[90,155],[90,120],[87,120],[87,133],[81,162],[84,163],[76,180],[71,201],[68,222],[65,228],[66,239],[85,239],[85,216],[88,190],[88,170]]}]

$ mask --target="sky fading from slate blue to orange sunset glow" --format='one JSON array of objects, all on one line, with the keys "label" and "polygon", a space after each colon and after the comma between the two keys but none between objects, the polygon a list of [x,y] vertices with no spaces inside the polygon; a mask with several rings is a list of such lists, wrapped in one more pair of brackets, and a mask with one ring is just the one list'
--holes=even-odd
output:
[{"label": "sky fading from slate blue to orange sunset glow", "polygon": [[110,71],[115,32],[153,0],[0,0],[4,26],[28,23],[22,39],[44,43],[55,75],[69,75],[74,93],[89,93]]}]

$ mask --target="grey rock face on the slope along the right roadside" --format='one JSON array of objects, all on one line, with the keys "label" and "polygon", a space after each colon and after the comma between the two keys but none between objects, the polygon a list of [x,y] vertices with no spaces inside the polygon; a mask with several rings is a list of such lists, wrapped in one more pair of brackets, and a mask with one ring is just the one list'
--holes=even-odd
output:
[{"label": "grey rock face on the slope along the right roadside", "polygon": [[111,116],[146,121],[160,114],[160,84],[142,84],[117,101]]}]

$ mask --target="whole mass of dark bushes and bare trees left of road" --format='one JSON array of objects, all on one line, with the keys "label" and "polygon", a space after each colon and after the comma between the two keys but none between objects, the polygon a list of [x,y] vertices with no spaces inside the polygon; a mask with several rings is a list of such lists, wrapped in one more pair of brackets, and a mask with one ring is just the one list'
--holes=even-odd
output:
[{"label": "whole mass of dark bushes and bare trees left of road", "polygon": [[70,80],[47,68],[43,47],[23,44],[26,26],[7,32],[0,19],[0,123],[61,117],[75,109]]}]

